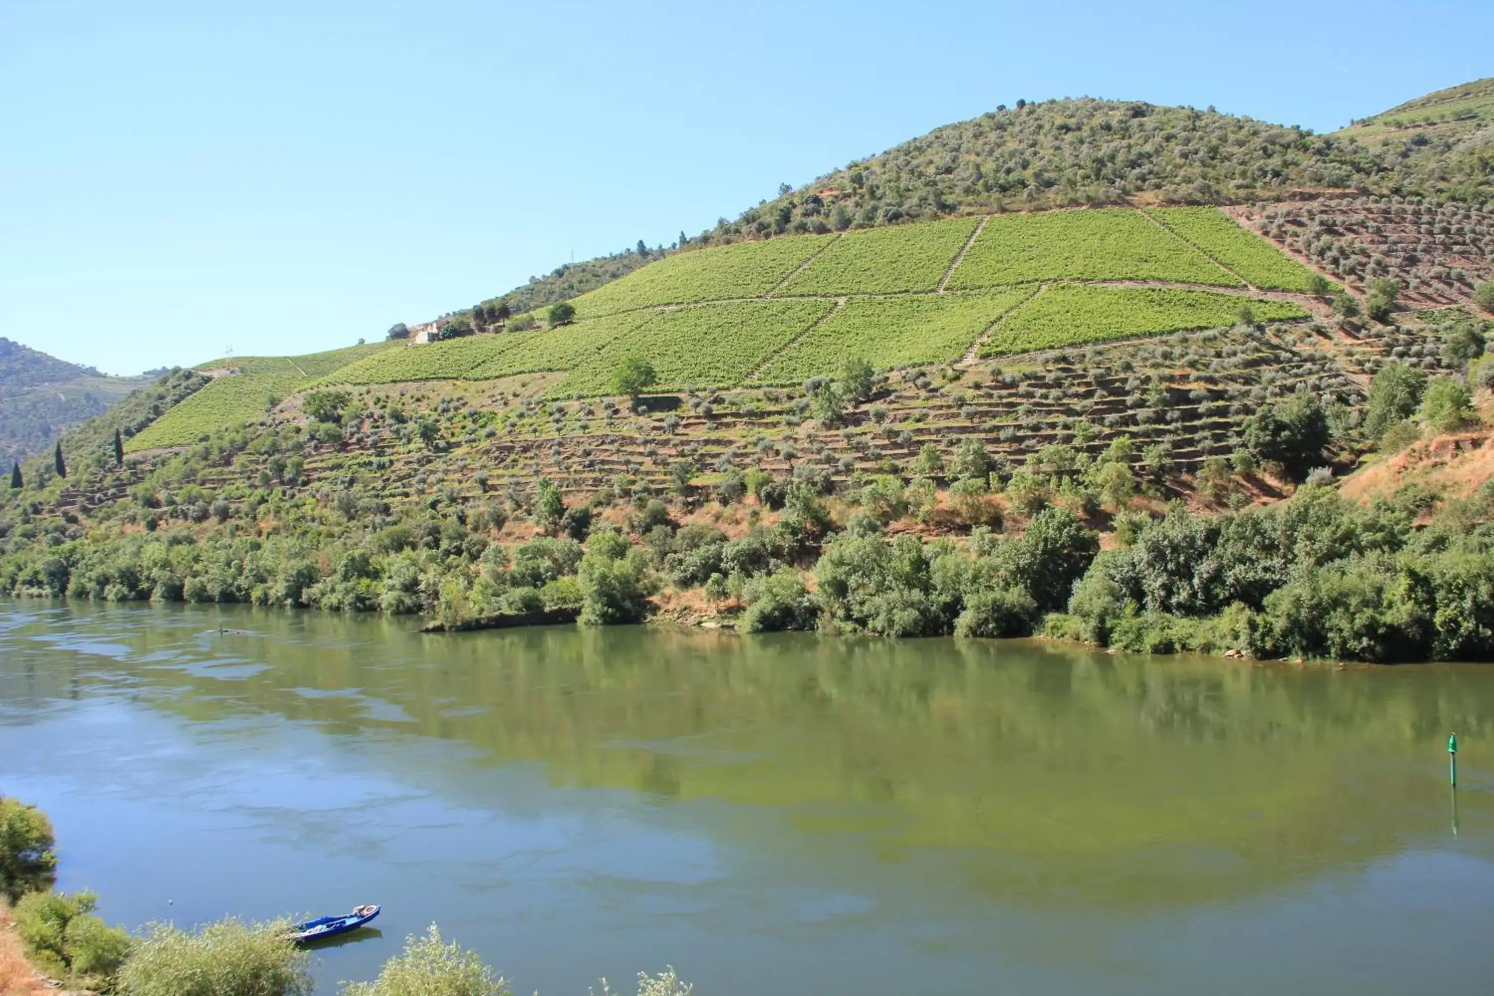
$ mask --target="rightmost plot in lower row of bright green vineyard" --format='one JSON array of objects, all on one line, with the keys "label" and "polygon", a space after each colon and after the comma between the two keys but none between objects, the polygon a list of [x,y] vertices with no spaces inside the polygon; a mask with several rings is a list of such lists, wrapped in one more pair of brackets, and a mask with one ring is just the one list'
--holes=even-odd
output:
[{"label": "rightmost plot in lower row of bright green vineyard", "polygon": [[[1083,342],[1191,329],[1224,329],[1240,297],[1152,287],[1050,287],[996,326],[980,355],[1005,355]],[[1258,321],[1306,318],[1291,302],[1249,302]]]}]

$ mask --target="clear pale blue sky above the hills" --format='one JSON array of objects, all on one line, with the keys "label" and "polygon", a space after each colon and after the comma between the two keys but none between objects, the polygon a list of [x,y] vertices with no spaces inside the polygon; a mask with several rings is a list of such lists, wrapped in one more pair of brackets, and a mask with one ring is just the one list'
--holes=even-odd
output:
[{"label": "clear pale blue sky above the hills", "polygon": [[0,0],[0,336],[111,373],[376,339],[1019,97],[1318,131],[1494,3]]}]

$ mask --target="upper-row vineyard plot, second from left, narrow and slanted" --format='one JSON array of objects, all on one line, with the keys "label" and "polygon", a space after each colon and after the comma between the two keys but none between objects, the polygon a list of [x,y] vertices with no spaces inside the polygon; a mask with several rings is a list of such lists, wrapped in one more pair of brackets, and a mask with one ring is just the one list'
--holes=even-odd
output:
[{"label": "upper-row vineyard plot, second from left, narrow and slanted", "polygon": [[931,291],[976,230],[976,218],[871,228],[841,236],[789,281],[784,294]]}]

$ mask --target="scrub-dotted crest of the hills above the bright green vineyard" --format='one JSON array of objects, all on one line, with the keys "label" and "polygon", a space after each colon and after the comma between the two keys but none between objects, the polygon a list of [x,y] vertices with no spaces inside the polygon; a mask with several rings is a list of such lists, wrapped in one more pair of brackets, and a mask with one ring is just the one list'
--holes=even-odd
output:
[{"label": "scrub-dotted crest of the hills above the bright green vineyard", "polygon": [[[1321,194],[1494,197],[1494,78],[1418,97],[1327,136],[1143,102],[1001,106],[855,160],[675,248],[1100,205],[1231,205]],[[1400,140],[1391,140],[1400,139]],[[515,314],[647,264],[620,252],[557,267],[490,299]]]}]

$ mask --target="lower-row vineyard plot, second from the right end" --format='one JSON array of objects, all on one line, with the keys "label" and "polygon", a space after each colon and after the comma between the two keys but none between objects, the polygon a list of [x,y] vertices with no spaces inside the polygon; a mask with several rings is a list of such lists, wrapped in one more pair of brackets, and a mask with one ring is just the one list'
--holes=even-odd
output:
[{"label": "lower-row vineyard plot, second from the right end", "polygon": [[958,360],[994,321],[1031,290],[967,296],[856,297],[811,329],[757,375],[763,384],[795,384],[834,372],[849,355],[878,367]]}]

